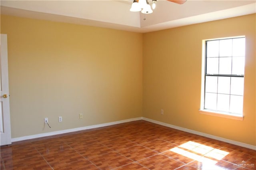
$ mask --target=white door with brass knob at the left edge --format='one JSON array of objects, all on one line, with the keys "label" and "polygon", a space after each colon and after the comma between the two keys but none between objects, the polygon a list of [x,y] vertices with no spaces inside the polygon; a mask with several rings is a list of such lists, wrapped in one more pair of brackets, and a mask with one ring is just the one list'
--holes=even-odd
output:
[{"label": "white door with brass knob at the left edge", "polygon": [[10,122],[10,103],[9,103],[9,84],[8,84],[8,55],[7,55],[7,35],[1,34],[0,36],[0,66],[1,66],[1,142],[0,145],[11,144],[11,122]]}]

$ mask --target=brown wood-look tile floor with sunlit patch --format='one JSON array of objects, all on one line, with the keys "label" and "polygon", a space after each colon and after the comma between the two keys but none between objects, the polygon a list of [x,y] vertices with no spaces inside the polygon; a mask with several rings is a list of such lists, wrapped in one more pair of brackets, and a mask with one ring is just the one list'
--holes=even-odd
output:
[{"label": "brown wood-look tile floor with sunlit patch", "polygon": [[14,142],[1,170],[256,169],[256,150],[146,121]]}]

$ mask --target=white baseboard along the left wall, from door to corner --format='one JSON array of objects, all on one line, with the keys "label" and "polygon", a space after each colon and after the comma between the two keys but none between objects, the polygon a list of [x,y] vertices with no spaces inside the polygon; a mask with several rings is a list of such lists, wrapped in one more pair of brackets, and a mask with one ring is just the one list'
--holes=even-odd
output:
[{"label": "white baseboard along the left wall, from door to corner", "polygon": [[110,122],[110,123],[103,123],[103,124],[98,124],[98,125],[91,125],[91,126],[87,126],[87,127],[71,128],[71,129],[59,130],[59,131],[54,131],[54,132],[40,133],[40,134],[34,134],[34,135],[29,135],[29,136],[22,136],[22,137],[19,137],[19,138],[12,138],[11,141],[12,142],[18,142],[18,141],[21,141],[21,140],[41,138],[41,137],[52,136],[52,135],[56,135],[56,134],[64,134],[64,133],[69,133],[69,132],[76,132],[76,131],[86,130],[86,129],[91,129],[91,128],[106,127],[106,126],[110,126],[110,125],[117,125],[117,124],[120,124],[120,123],[139,121],[139,120],[142,120],[142,117],[133,118],[133,119],[126,119],[126,120]]}]

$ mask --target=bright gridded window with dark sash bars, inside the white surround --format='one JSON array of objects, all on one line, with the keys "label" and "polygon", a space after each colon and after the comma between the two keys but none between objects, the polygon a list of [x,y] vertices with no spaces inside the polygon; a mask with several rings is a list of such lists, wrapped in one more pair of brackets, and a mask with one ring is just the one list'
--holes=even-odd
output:
[{"label": "bright gridded window with dark sash bars, inside the white surround", "polygon": [[245,38],[205,43],[204,110],[243,115]]}]

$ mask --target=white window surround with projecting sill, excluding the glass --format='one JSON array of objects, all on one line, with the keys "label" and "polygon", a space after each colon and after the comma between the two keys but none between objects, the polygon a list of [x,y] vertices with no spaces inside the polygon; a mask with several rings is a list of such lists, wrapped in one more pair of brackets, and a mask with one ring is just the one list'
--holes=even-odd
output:
[{"label": "white window surround with projecting sill, excluding the glass", "polygon": [[206,41],[210,40],[224,40],[224,39],[232,39],[232,38],[245,38],[245,36],[238,36],[238,37],[228,37],[228,38],[216,38],[216,39],[209,39],[209,40],[202,40],[202,79],[201,79],[201,103],[199,113],[204,115],[212,115],[217,117],[223,117],[228,119],[235,119],[235,120],[244,120],[244,115],[235,115],[232,113],[222,112],[222,111],[214,111],[209,109],[204,109],[204,97],[205,97],[205,69],[206,69]]}]

